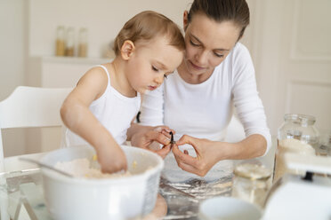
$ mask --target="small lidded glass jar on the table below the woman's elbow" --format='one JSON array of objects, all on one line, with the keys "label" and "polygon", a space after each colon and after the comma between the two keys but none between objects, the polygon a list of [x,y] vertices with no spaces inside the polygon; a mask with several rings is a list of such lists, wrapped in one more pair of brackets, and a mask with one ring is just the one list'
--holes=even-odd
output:
[{"label": "small lidded glass jar on the table below the woman's elbow", "polygon": [[261,208],[270,189],[271,169],[262,164],[244,162],[234,169],[232,196]]}]

